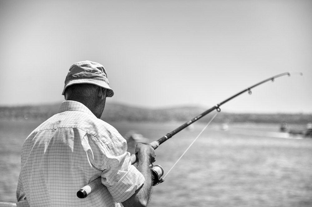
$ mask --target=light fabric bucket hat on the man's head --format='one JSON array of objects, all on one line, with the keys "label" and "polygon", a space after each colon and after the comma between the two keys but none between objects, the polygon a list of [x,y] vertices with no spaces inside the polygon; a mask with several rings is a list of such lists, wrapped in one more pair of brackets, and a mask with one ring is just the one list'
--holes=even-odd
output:
[{"label": "light fabric bucket hat on the man's head", "polygon": [[79,83],[94,84],[107,90],[107,97],[114,96],[113,89],[110,88],[110,83],[107,78],[107,73],[103,65],[89,60],[74,63],[68,71],[65,78],[65,86],[62,95],[65,94],[65,89],[68,86]]}]

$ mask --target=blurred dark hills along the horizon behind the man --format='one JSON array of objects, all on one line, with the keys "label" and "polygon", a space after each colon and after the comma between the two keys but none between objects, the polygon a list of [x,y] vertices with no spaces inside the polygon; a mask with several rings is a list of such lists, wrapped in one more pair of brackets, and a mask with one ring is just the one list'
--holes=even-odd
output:
[{"label": "blurred dark hills along the horizon behind the man", "polygon": [[[36,106],[0,106],[0,119],[46,120],[59,110],[61,103]],[[144,121],[144,122],[184,122],[193,119],[207,109],[201,107],[172,107],[166,109],[148,109],[127,106],[119,103],[106,103],[101,119],[110,121]],[[211,115],[199,121],[207,122]],[[312,121],[312,114],[256,114],[220,112],[214,119],[218,123],[255,122],[255,123],[294,123],[306,124]]]}]

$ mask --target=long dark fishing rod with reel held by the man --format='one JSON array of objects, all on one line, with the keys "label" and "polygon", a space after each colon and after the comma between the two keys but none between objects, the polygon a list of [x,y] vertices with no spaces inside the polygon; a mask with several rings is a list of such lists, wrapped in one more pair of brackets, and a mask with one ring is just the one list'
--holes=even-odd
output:
[{"label": "long dark fishing rod with reel held by the man", "polygon": [[[150,143],[149,145],[151,145],[154,149],[158,148],[158,146],[162,143],[164,143],[165,141],[167,141],[168,139],[170,139],[173,135],[177,134],[178,132],[180,132],[182,129],[185,129],[186,127],[188,127],[189,125],[193,124],[195,121],[201,119],[203,116],[209,114],[210,112],[216,110],[217,112],[220,112],[220,106],[222,106],[223,104],[225,104],[226,102],[232,100],[233,98],[241,95],[242,93],[248,92],[251,95],[251,89],[254,87],[257,87],[265,82],[268,81],[272,81],[274,82],[276,78],[279,78],[281,76],[286,76],[288,75],[290,77],[291,74],[297,74],[297,75],[303,75],[303,73],[301,72],[295,72],[295,71],[291,71],[291,72],[285,72],[285,73],[280,73],[278,75],[272,76],[271,78],[267,78],[261,82],[258,82],[244,90],[242,90],[241,92],[238,92],[236,94],[234,94],[233,96],[227,98],[226,100],[216,104],[215,106],[211,107],[210,109],[202,112],[200,115],[197,115],[196,117],[194,117],[193,119],[189,120],[188,122],[185,122],[183,125],[179,126],[177,129],[174,129],[172,132],[164,135],[162,138],[158,139],[157,141],[154,141],[152,143]],[[131,164],[134,164],[138,161],[137,155],[136,154],[132,154],[131,155]],[[163,169],[161,166],[159,165],[155,165],[152,168],[152,172],[154,175],[154,185],[157,185],[161,182],[163,182],[163,179],[161,178],[161,176],[163,175]],[[83,188],[81,188],[78,192],[77,192],[77,196],[79,198],[85,198],[87,197],[92,191],[94,191],[96,188],[98,188],[101,185],[101,177],[95,179],[94,181],[91,181],[88,185],[84,186]]]}]

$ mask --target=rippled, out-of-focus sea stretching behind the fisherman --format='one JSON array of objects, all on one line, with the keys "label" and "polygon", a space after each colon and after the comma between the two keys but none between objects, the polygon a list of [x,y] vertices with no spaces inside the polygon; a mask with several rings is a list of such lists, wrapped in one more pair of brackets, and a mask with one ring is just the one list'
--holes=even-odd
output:
[{"label": "rippled, out-of-focus sea stretching behind the fisherman", "polygon": [[[22,144],[41,122],[0,120],[0,201],[15,202]],[[183,123],[110,124],[152,142]],[[166,177],[153,187],[149,206],[312,206],[311,138],[280,132],[278,124],[213,122],[198,136],[204,126],[194,123],[155,150],[154,164]]]}]

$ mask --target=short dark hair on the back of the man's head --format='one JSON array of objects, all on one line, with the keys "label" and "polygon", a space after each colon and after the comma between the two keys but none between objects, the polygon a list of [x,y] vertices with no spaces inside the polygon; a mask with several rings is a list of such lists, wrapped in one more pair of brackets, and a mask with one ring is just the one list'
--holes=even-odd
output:
[{"label": "short dark hair on the back of the man's head", "polygon": [[97,97],[99,86],[88,83],[73,84],[66,88],[64,97],[66,100],[91,101]]}]

